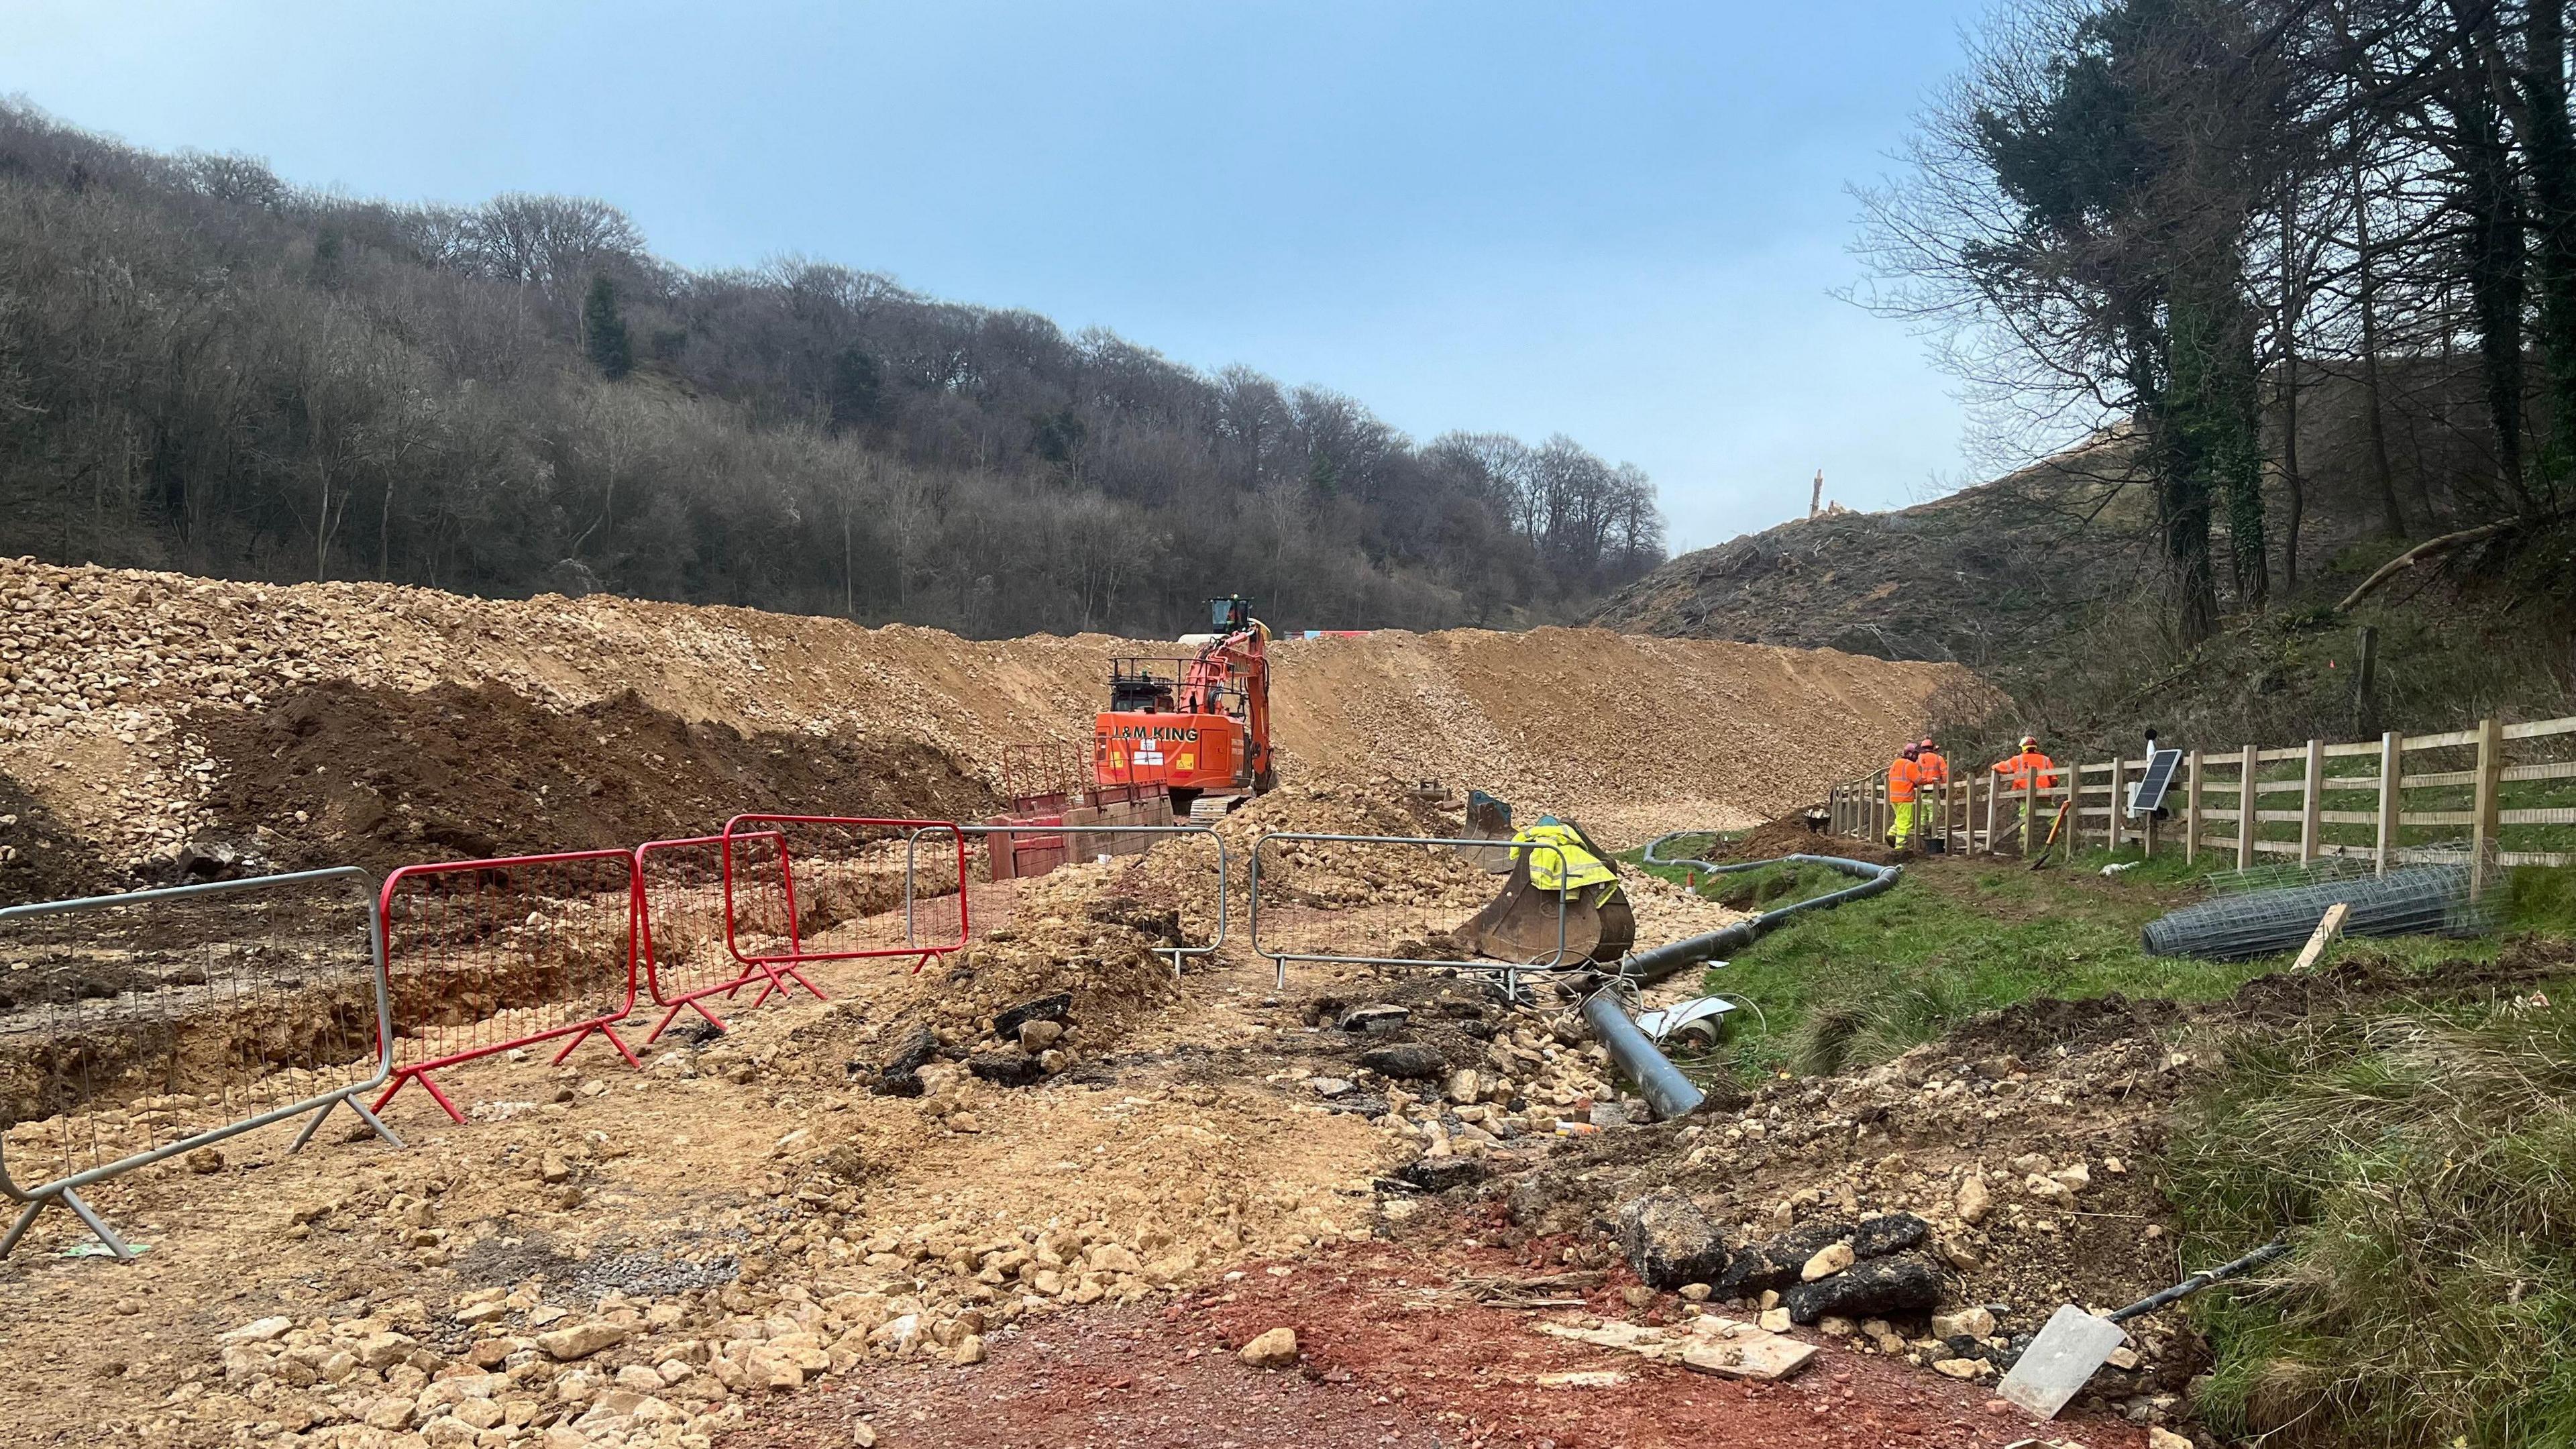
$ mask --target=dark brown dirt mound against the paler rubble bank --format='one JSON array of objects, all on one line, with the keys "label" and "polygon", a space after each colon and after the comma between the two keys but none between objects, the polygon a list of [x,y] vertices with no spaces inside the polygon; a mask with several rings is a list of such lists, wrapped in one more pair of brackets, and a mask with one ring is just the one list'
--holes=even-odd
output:
[{"label": "dark brown dirt mound against the paler rubble bank", "polygon": [[744,810],[974,817],[992,789],[943,750],[744,735],[634,691],[554,712],[487,683],[428,694],[325,681],[276,706],[204,709],[206,810],[278,864],[603,851],[703,835]]}]

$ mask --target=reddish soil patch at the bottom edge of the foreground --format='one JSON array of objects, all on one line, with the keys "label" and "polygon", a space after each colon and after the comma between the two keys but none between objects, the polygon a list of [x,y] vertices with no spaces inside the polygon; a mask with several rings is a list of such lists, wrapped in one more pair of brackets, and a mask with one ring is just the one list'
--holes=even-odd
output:
[{"label": "reddish soil patch at the bottom edge of the foreground", "polygon": [[[1499,1248],[1370,1243],[1288,1269],[1257,1266],[1159,1310],[1036,1320],[994,1336],[992,1359],[971,1369],[896,1369],[809,1392],[724,1449],[837,1449],[858,1421],[889,1449],[1999,1449],[2035,1434],[2133,1449],[2146,1439],[2099,1418],[2038,1428],[1991,1413],[1989,1390],[1832,1343],[1785,1385],[1739,1385],[1548,1338],[1535,1323],[1579,1310],[1484,1307],[1455,1292],[1461,1279],[1548,1271]],[[1628,1315],[1610,1289],[1589,1310]],[[1296,1372],[1236,1361],[1236,1346],[1280,1325],[1298,1333]],[[1602,1372],[1615,1382],[1553,1379]]]}]

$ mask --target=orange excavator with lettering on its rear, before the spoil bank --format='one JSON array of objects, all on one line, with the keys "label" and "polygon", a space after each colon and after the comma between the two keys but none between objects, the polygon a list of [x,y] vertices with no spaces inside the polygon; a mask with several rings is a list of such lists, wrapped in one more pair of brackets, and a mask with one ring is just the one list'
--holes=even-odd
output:
[{"label": "orange excavator with lettering on its rear, before the spoil bank", "polygon": [[1275,784],[1270,627],[1242,596],[1208,601],[1208,632],[1182,657],[1110,660],[1110,706],[1092,722],[1100,786],[1159,784],[1172,815],[1206,820]]}]

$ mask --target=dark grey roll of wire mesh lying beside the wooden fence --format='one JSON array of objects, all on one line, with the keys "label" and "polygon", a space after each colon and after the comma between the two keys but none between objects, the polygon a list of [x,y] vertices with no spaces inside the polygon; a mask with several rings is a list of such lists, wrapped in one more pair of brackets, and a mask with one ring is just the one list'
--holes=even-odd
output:
[{"label": "dark grey roll of wire mesh lying beside the wooden fence", "polygon": [[2334,905],[2349,905],[2347,936],[2476,936],[2494,926],[2494,900],[2473,902],[2468,866],[2409,866],[2385,877],[2246,890],[2146,923],[2154,957],[2241,962],[2295,951]]}]

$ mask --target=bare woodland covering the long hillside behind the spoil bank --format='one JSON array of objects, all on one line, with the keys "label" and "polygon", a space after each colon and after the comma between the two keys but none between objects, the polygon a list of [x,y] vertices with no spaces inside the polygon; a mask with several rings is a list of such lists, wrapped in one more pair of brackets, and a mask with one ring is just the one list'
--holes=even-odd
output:
[{"label": "bare woodland covering the long hillside behind the spoil bank", "polygon": [[1571,438],[1358,400],[616,206],[397,206],[0,106],[0,549],[969,634],[1579,619],[1664,557]]}]

